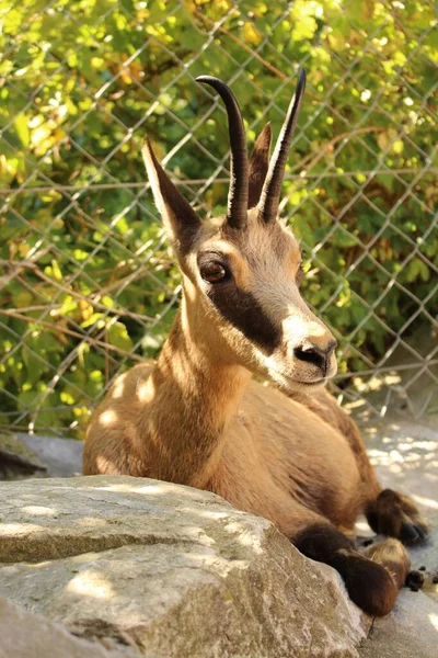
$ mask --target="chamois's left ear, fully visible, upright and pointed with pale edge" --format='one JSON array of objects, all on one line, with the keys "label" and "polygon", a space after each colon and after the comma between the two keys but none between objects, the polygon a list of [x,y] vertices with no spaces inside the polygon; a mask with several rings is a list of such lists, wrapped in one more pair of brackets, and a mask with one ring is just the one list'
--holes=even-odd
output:
[{"label": "chamois's left ear, fully visible, upright and pointed with pale edge", "polygon": [[153,198],[169,238],[177,252],[186,252],[200,227],[200,219],[191,204],[172,183],[157,160],[148,137],[141,155],[145,160]]}]

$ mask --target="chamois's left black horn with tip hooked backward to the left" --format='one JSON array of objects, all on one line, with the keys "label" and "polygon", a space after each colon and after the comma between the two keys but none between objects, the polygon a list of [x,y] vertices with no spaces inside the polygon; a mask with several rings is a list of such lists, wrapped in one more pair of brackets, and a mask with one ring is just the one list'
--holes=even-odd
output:
[{"label": "chamois's left black horn with tip hooked backward to the left", "polygon": [[243,228],[247,219],[247,148],[242,114],[234,94],[222,80],[212,76],[199,76],[196,81],[210,84],[227,109],[231,146],[227,219],[231,227]]}]

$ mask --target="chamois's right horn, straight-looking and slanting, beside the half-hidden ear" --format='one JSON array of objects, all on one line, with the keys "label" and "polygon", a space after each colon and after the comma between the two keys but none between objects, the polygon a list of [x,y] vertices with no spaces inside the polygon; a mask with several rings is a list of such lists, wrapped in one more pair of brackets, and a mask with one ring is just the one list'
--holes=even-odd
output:
[{"label": "chamois's right horn, straight-looking and slanting, beside the half-hidden ear", "polygon": [[266,222],[266,224],[275,222],[277,218],[278,205],[280,203],[281,183],[285,175],[288,151],[297,125],[304,88],[306,71],[302,68],[300,69],[295,95],[290,101],[286,120],[278,136],[266,181],[262,190],[258,209],[263,220]]}]

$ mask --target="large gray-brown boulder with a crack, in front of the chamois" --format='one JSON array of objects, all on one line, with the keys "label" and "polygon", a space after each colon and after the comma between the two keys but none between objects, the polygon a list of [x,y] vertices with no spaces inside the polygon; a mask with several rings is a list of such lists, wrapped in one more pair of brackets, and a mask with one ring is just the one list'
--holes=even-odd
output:
[{"label": "large gray-brown boulder with a crack, in front of the chamois", "polygon": [[337,574],[214,494],[33,479],[0,484],[0,594],[111,650],[357,656],[364,621]]}]

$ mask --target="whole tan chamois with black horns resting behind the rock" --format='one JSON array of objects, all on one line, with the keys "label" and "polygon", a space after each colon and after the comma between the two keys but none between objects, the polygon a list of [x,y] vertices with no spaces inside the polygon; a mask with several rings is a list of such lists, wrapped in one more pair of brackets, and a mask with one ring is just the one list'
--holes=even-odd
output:
[{"label": "whole tan chamois with black horns resting behind the rock", "polygon": [[[384,615],[410,568],[399,540],[423,541],[427,525],[412,500],[382,490],[357,426],[324,388],[336,373],[336,341],[300,295],[300,247],[278,218],[306,73],[270,161],[270,124],[249,160],[230,88],[210,76],[197,81],[227,110],[227,214],[200,222],[146,138],[142,155],[182,272],[182,303],[157,363],[120,375],[95,411],[84,473],[215,491],[269,519],[301,553],[337,569],[355,603]],[[368,555],[347,536],[360,511],[374,532],[394,537]]]}]

